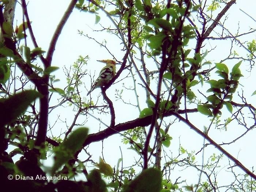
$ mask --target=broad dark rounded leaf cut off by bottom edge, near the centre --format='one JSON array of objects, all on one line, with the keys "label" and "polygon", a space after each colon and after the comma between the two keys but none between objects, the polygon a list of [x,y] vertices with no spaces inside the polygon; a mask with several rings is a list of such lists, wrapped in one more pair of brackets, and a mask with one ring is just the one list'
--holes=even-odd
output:
[{"label": "broad dark rounded leaf cut off by bottom edge, near the centre", "polygon": [[155,168],[148,168],[132,180],[124,192],[159,192],[162,186],[161,183],[161,171]]}]

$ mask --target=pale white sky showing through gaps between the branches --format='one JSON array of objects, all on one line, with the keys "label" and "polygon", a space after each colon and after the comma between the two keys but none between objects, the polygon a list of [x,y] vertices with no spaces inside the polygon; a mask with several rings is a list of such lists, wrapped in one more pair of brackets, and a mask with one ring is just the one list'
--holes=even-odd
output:
[{"label": "pale white sky showing through gaps between the branches", "polygon": [[[35,38],[37,39],[38,45],[42,48],[42,50],[47,50],[49,46],[50,39],[52,37],[52,34],[56,28],[56,26],[59,23],[59,20],[61,19],[63,12],[66,10],[67,6],[69,4],[69,0],[37,0],[37,1],[32,1],[30,0],[28,3],[28,13],[30,16],[30,20],[32,21],[31,26],[33,28]],[[251,15],[253,18],[256,18],[256,12],[255,12],[255,7],[256,7],[256,1],[255,0],[247,0],[246,3],[244,0],[237,0],[237,3],[233,5],[229,12],[228,12],[228,17],[229,20],[226,22],[226,27],[230,30],[230,32],[235,33],[237,31],[237,24],[239,22],[240,26],[240,33],[242,31],[248,31],[248,28],[256,28],[256,22],[254,22],[251,18],[249,18],[247,15],[245,15],[243,12],[241,12],[239,9],[243,10],[244,12],[248,13]],[[109,20],[105,17],[105,15],[101,15],[101,20],[100,24],[108,26],[111,25]],[[16,7],[16,13],[15,13],[15,20],[14,20],[14,25],[17,23],[19,25],[22,23],[22,11],[20,9],[20,6],[17,4]],[[111,48],[111,52],[115,53],[115,56],[119,61],[121,61],[123,57],[123,52],[121,52],[121,49],[123,48],[122,45],[120,45],[117,42],[117,39],[113,38],[112,35],[108,35],[104,32],[95,32],[93,31],[100,29],[98,25],[95,25],[95,15],[94,14],[89,14],[89,13],[84,13],[84,12],[79,12],[78,10],[74,10],[68,19],[68,22],[64,26],[63,31],[61,32],[61,35],[58,39],[57,45],[56,45],[56,50],[53,55],[53,61],[52,65],[60,67],[59,71],[56,72],[56,76],[61,74],[61,70],[64,66],[69,66],[72,65],[76,59],[78,58],[79,55],[82,56],[87,56],[89,55],[90,60],[88,61],[87,67],[88,70],[90,70],[92,73],[95,72],[95,74],[98,74],[98,71],[103,67],[102,64],[97,63],[96,60],[101,60],[101,59],[112,59],[112,56],[102,47],[99,45],[95,44],[93,40],[88,40],[86,37],[83,37],[78,34],[78,30],[83,31],[84,34],[88,34],[91,37],[97,37],[97,40],[99,42],[103,41],[106,39],[107,45]],[[255,34],[251,35],[249,38],[242,38],[242,41],[249,41],[252,38],[256,38]],[[119,41],[118,41],[119,42]],[[220,43],[220,42],[217,42]],[[30,44],[30,43],[29,43]],[[212,42],[209,40],[209,44],[214,47],[215,42]],[[31,45],[31,44],[30,44]],[[216,56],[218,54],[227,54],[229,48],[226,48],[223,46],[223,50],[213,50],[210,52],[207,56],[209,60],[214,60],[216,61]],[[239,50],[238,50],[239,51]],[[246,53],[243,53],[246,54]],[[218,55],[219,57],[219,55]],[[222,58],[222,57],[220,57]],[[238,61],[237,61],[238,62]],[[228,65],[229,66],[229,65]],[[231,65],[229,66],[231,69]],[[248,66],[244,66],[243,70],[248,69]],[[65,87],[65,77],[62,75],[59,75],[58,78],[61,79],[59,83],[56,83],[56,87],[64,88]],[[90,79],[87,79],[90,82]],[[256,86],[254,83],[255,82],[255,69],[251,72],[251,74],[246,73],[246,75],[241,78],[241,84],[244,86],[242,89],[244,91],[245,95],[251,95],[253,91],[256,90]],[[87,89],[90,89],[90,83],[85,83],[87,85]],[[120,85],[121,83],[118,83],[117,86]],[[200,88],[199,88],[200,89]],[[240,88],[241,89],[241,88]],[[114,91],[114,88],[110,88],[108,90]],[[240,90],[241,91],[241,90]],[[100,90],[95,90],[95,94],[99,94]],[[84,90],[82,93],[85,97],[87,94],[87,91]],[[125,95],[125,98],[128,98],[129,95]],[[255,95],[256,97],[256,95]],[[248,102],[249,103],[255,103],[255,97],[248,97]],[[113,98],[114,99],[114,98]],[[144,103],[144,107],[146,107],[146,103]],[[135,109],[133,107],[127,108],[128,115],[124,116],[122,115],[122,109],[118,108],[118,106],[115,106],[115,109],[117,109],[117,123],[122,123],[127,120],[132,120],[134,118],[138,117],[138,109]],[[143,105],[142,105],[143,109]],[[63,112],[65,114],[63,114]],[[51,115],[50,121],[52,121],[51,124],[53,124],[54,120],[56,120],[56,117],[61,114],[62,115],[62,120],[67,119],[67,122],[72,120],[68,119],[69,116],[72,116],[74,113],[72,111],[67,110],[65,111],[65,108],[61,111],[56,111],[53,113],[54,115]],[[205,118],[205,116],[201,116],[202,118]],[[85,116],[81,117],[85,118]],[[193,114],[191,114],[191,118],[198,118],[197,116],[194,117]],[[209,124],[209,121],[207,118],[204,121],[195,121],[195,125],[200,127],[200,129],[203,129],[203,126],[207,126]],[[102,117],[102,120],[107,122],[108,120],[104,119]],[[90,128],[90,132],[97,132],[98,131],[98,123],[92,119],[89,119],[87,124]],[[95,126],[97,125],[97,126]],[[176,122],[175,125],[178,127],[177,129],[175,126],[170,129],[170,135],[173,137],[172,140],[172,145],[169,149],[165,149],[166,151],[168,150],[175,150],[179,143],[184,146],[186,146],[186,149],[188,151],[199,151],[200,148],[202,147],[203,144],[203,139],[198,136],[192,129],[189,129],[186,125]],[[65,124],[64,123],[59,123],[58,125],[59,129],[57,129],[57,132],[64,131],[65,130]],[[103,129],[103,126],[102,126]],[[184,132],[186,134],[184,134]],[[211,133],[210,133],[211,134]],[[234,134],[239,135],[239,132],[230,130],[230,131],[222,131],[221,134],[215,135],[215,133],[212,133],[212,138],[218,143],[223,140],[225,141],[230,141],[229,140],[229,135]],[[239,140],[236,144],[234,145],[229,145],[229,146],[224,146],[224,148],[228,151],[230,151],[231,154],[233,154],[235,157],[238,157],[238,159],[244,163],[245,166],[247,167],[252,167],[255,166],[256,164],[253,162],[256,162],[256,156],[253,154],[252,149],[255,148],[255,143],[252,143],[252,139],[255,138],[256,133],[252,132],[252,134],[245,135],[245,138],[243,138],[241,141]],[[106,139],[103,143],[104,145],[104,154],[105,154],[105,160],[107,163],[109,163],[112,167],[116,166],[117,159],[121,158],[121,153],[119,147],[121,147],[121,150],[123,151],[123,159],[124,159],[124,165],[129,165],[131,164],[134,159],[129,158],[136,156],[136,153],[132,150],[127,150],[129,147],[128,145],[124,146],[123,144],[120,143],[121,137],[119,135],[116,136],[111,136],[110,138]],[[191,145],[188,145],[186,142],[189,141],[192,143]],[[186,143],[186,144],[185,144]],[[94,150],[94,160],[98,161],[98,157],[101,156],[101,142],[98,143],[93,143],[90,145],[90,147],[94,149],[99,149],[99,150]],[[247,147],[251,146],[251,147]],[[212,146],[208,146],[207,148],[212,148],[214,151],[214,148]],[[115,157],[113,158],[113,153],[115,151]],[[208,150],[210,151],[210,150]],[[215,150],[216,151],[216,150]],[[218,153],[218,151],[217,151]],[[209,154],[208,154],[209,155]],[[200,156],[199,156],[200,157]],[[128,160],[126,160],[128,159]],[[48,165],[46,163],[46,165]],[[191,173],[190,170],[185,170],[188,171],[188,173]],[[222,170],[223,171],[223,170]],[[223,173],[225,174],[225,173]],[[193,178],[188,179],[188,184],[189,182],[193,182]],[[221,181],[220,181],[221,182]]]}]

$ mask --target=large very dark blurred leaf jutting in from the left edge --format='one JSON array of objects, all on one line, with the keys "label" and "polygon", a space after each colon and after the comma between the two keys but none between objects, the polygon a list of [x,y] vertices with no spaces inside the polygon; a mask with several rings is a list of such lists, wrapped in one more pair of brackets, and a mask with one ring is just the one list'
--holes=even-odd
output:
[{"label": "large very dark blurred leaf jutting in from the left edge", "polygon": [[28,90],[12,95],[7,99],[1,99],[0,127],[15,121],[18,116],[26,111],[30,103],[40,97],[40,95],[41,94],[35,90]]}]

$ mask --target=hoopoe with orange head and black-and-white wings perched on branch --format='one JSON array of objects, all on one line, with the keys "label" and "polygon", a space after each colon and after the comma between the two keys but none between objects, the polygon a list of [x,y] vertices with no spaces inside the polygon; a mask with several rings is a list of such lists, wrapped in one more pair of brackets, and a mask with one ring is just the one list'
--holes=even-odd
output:
[{"label": "hoopoe with orange head and black-and-white wings perched on branch", "polygon": [[98,87],[103,87],[110,82],[111,79],[116,75],[116,61],[107,60],[97,60],[101,63],[106,63],[106,66],[99,72],[99,77],[95,80],[91,86],[90,91],[87,93],[89,95],[94,89]]}]

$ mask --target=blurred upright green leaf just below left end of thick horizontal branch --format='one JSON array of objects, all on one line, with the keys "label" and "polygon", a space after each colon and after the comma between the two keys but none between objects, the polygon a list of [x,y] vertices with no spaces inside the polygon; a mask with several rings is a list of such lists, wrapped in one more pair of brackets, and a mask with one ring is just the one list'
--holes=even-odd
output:
[{"label": "blurred upright green leaf just below left end of thick horizontal branch", "polygon": [[55,161],[52,167],[52,173],[55,173],[57,169],[67,163],[69,159],[73,158],[74,154],[83,147],[87,135],[88,128],[80,127],[73,131],[60,146],[54,148]]}]

